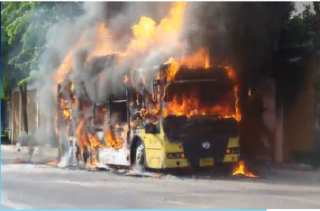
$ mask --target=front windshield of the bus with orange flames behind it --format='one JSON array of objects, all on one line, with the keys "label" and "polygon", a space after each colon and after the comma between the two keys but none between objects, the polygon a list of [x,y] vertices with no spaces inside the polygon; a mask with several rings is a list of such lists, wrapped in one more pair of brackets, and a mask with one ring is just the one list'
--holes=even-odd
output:
[{"label": "front windshield of the bus with orange flames behind it", "polygon": [[193,115],[233,116],[235,93],[232,83],[215,79],[173,81],[166,89],[164,117]]}]

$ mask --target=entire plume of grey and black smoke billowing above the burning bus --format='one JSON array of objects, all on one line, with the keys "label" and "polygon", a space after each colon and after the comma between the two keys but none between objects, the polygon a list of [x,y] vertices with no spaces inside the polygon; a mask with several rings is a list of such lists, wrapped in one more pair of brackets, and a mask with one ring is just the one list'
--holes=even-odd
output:
[{"label": "entire plume of grey and black smoke billowing above the burning bus", "polygon": [[171,5],[166,2],[86,2],[76,18],[60,20],[52,26],[47,35],[49,48],[42,53],[39,66],[45,76],[39,81],[41,89],[38,93],[43,121],[41,133],[54,131],[54,105],[57,102],[55,96],[50,95],[56,88],[52,78],[69,50],[80,40],[84,43],[74,49],[69,79],[77,95],[92,102],[105,102],[110,94],[118,95],[123,90],[123,76],[133,69],[133,64],[136,68],[144,68],[168,60],[168,55],[172,57],[177,53],[176,41],[185,44],[178,50],[193,52],[206,47],[210,57],[215,58],[212,59],[214,63],[229,60],[237,70],[242,87],[249,87],[261,70],[270,70],[266,64],[271,60],[281,24],[291,9],[289,3],[187,3],[182,31],[169,34],[165,44],[151,48],[143,58],[127,57],[116,66],[114,55],[88,60],[96,39],[99,39],[96,38],[97,23],[105,23],[107,35],[113,38],[109,51],[123,51],[133,37],[133,24],[142,16],[160,23],[169,14]]}]

